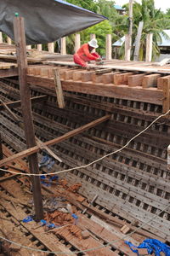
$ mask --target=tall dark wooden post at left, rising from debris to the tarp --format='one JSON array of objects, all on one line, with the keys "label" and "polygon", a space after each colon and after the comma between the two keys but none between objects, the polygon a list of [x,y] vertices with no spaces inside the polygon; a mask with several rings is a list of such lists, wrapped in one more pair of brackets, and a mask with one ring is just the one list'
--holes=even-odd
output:
[{"label": "tall dark wooden post at left, rising from debris to the tarp", "polygon": [[[28,84],[26,83],[26,38],[24,19],[21,17],[14,17],[14,41],[16,44],[17,63],[19,69],[20,101],[25,126],[26,145],[27,148],[31,148],[36,146],[37,144],[35,140],[34,127],[31,116],[30,89]],[[31,173],[39,173],[37,154],[31,154],[28,157],[28,160]],[[32,176],[31,181],[36,219],[37,221],[39,221],[40,219],[43,218],[40,178]]]}]

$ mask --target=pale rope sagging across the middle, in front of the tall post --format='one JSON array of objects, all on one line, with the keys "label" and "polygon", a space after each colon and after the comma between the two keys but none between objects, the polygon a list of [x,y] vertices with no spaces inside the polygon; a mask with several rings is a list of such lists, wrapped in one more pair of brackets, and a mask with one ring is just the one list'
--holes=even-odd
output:
[{"label": "pale rope sagging across the middle, in front of the tall post", "polygon": [[[161,117],[164,117],[165,115],[167,115],[168,113],[170,112],[170,109],[167,111],[167,113],[163,113],[161,114],[160,116],[158,116],[153,122],[151,122],[150,125],[148,125],[143,131],[140,131],[137,135],[135,135],[133,138],[131,138],[122,148],[119,148],[117,149],[116,151],[113,151],[109,154],[105,154],[104,156],[100,157],[99,159],[97,160],[94,160],[93,162],[90,162],[89,164],[87,165],[84,165],[84,166],[77,166],[77,167],[73,167],[73,168],[70,168],[70,169],[66,169],[66,170],[63,170],[63,171],[59,171],[59,172],[48,172],[48,173],[44,173],[43,175],[44,176],[48,176],[48,175],[54,175],[54,174],[59,174],[59,173],[64,173],[64,172],[71,172],[73,170],[79,170],[79,169],[82,169],[82,168],[87,168],[88,166],[92,166],[94,165],[95,163],[99,162],[99,160],[103,160],[105,159],[107,156],[110,156],[112,154],[116,154],[118,152],[120,152],[123,148],[126,148],[128,146],[129,143],[131,143],[136,137],[139,137],[142,133],[144,133],[144,131],[147,131],[151,125],[153,125],[154,123],[156,123],[156,121],[158,119],[161,119]],[[14,172],[14,171],[10,171],[10,170],[5,170],[5,169],[2,169],[0,168],[0,171],[3,171],[3,172],[10,172],[10,173],[14,173],[14,174],[19,174],[19,175],[24,175],[24,176],[42,176],[42,174],[39,174],[39,173],[23,173],[23,172]]]}]

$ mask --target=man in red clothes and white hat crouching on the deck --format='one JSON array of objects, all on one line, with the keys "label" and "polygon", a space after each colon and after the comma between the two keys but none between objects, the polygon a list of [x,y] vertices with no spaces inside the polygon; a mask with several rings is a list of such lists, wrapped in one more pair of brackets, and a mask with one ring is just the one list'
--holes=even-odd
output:
[{"label": "man in red clothes and white hat crouching on the deck", "polygon": [[81,48],[73,56],[74,62],[82,67],[88,67],[88,61],[101,61],[97,53],[91,53],[93,49],[98,47],[99,45],[96,39],[92,39],[88,44],[82,44]]}]

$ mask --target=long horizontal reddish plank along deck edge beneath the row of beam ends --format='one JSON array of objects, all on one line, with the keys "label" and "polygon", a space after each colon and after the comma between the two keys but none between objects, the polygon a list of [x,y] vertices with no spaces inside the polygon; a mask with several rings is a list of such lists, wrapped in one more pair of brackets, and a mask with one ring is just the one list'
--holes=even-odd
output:
[{"label": "long horizontal reddish plank along deck edge beneath the row of beam ends", "polygon": [[[35,78],[33,76],[27,76],[29,84],[35,84],[47,89],[54,90],[54,80]],[[48,87],[47,87],[48,84]],[[149,102],[158,105],[162,105],[162,91],[156,90],[156,88],[143,89],[142,87],[131,88],[127,85],[111,85],[111,84],[93,84],[82,83],[72,81],[61,81],[63,90],[77,91],[85,94],[108,96],[118,99],[132,100],[138,102]]]}]

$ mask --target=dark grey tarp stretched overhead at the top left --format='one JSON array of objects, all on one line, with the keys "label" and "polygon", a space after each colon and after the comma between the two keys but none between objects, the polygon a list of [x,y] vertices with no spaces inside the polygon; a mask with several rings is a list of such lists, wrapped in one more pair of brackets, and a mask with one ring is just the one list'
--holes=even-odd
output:
[{"label": "dark grey tarp stretched overhead at the top left", "polygon": [[62,0],[0,0],[0,31],[12,39],[15,13],[25,18],[26,44],[54,42],[106,19]]}]

